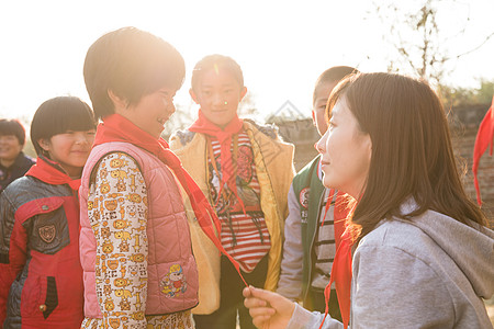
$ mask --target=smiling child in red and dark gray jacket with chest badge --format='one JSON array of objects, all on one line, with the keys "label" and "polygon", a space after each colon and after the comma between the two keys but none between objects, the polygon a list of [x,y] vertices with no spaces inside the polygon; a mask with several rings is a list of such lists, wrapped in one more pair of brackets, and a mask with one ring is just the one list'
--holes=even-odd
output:
[{"label": "smiling child in red and dark gray jacket with chest badge", "polygon": [[0,196],[0,328],[82,322],[78,189],[94,129],[78,98],[50,99],[34,114],[36,164]]}]

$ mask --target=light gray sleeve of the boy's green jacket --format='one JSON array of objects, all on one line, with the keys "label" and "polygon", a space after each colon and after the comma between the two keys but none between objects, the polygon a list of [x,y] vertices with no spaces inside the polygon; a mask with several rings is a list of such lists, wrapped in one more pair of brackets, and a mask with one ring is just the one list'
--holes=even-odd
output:
[{"label": "light gray sleeve of the boy's green jacket", "polygon": [[300,206],[293,184],[288,195],[289,215],[284,222],[283,257],[277,293],[291,299],[300,300],[302,295],[302,227]]}]

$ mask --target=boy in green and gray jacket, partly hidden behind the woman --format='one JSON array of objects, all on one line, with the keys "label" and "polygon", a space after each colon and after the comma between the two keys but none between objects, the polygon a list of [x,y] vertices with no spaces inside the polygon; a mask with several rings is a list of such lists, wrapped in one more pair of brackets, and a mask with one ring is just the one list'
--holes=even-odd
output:
[{"label": "boy in green and gray jacket, partly hidden behind the woman", "polygon": [[[332,90],[344,77],[357,72],[355,68],[337,66],[324,71],[316,81],[313,95],[312,118],[321,136],[327,131],[326,103]],[[283,259],[278,293],[303,300],[304,307],[324,313],[324,288],[336,253],[337,235],[341,234],[347,211],[338,207],[336,195],[329,200],[329,190],[322,183],[321,156],[305,166],[294,178],[289,193],[289,216],[284,227]],[[335,193],[336,194],[336,193]],[[341,205],[343,206],[343,205]],[[335,218],[336,217],[338,218]],[[324,220],[324,226],[322,226]],[[329,299],[329,314],[340,319],[334,287]]]}]

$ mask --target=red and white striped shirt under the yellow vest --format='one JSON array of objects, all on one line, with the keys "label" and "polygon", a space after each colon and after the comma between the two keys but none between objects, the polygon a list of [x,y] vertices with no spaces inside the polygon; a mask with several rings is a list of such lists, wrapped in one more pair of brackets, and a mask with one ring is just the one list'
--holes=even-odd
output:
[{"label": "red and white striped shirt under the yellow vest", "polygon": [[[216,166],[209,158],[209,183],[213,204],[222,223],[221,240],[225,250],[240,264],[244,272],[251,272],[271,248],[268,227],[260,207],[260,186],[256,174],[254,152],[248,135],[238,134],[237,146],[232,141],[232,155],[237,155],[236,185],[237,195],[244,208],[228,186],[223,186],[218,200],[221,170],[221,145],[211,138]],[[234,149],[236,148],[236,149]],[[216,172],[215,168],[220,171]],[[220,177],[218,177],[220,174]]]}]

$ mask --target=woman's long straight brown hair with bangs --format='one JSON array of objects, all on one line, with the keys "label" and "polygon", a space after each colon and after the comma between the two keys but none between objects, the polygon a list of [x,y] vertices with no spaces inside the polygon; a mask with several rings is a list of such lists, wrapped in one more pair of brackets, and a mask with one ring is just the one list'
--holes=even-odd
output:
[{"label": "woman's long straight brown hair with bangs", "polygon": [[[328,117],[341,98],[372,141],[367,185],[352,218],[360,237],[383,218],[408,219],[427,209],[487,226],[463,190],[442,104],[427,83],[392,73],[350,76],[333,91]],[[409,196],[418,207],[401,214]]]}]

